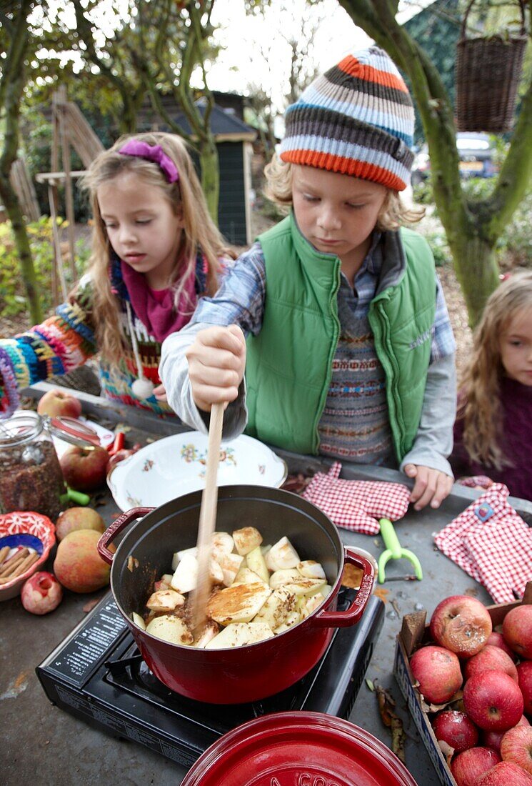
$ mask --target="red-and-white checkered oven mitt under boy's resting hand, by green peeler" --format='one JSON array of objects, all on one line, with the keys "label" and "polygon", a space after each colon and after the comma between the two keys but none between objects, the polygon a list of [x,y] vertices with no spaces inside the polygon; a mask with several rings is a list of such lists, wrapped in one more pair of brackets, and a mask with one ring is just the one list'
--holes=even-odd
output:
[{"label": "red-and-white checkered oven mitt under boy's resting hand, by green peeler", "polygon": [[405,516],[410,490],[402,483],[339,478],[342,465],[317,472],[302,496],[321,509],[337,527],[366,535],[378,534],[379,519],[397,521]]}]

